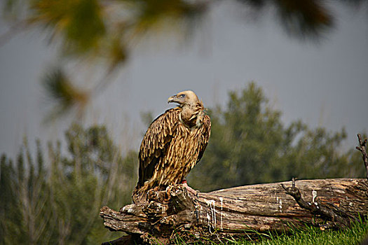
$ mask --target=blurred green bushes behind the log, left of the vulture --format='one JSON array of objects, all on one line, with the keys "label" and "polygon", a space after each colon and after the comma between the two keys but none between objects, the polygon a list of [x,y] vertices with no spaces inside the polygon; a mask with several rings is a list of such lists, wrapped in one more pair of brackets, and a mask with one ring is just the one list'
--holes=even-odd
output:
[{"label": "blurred green bushes behind the log, left of the vulture", "polygon": [[130,202],[137,155],[123,158],[105,127],[72,125],[66,138],[67,154],[49,144],[47,160],[39,141],[35,159],[27,141],[15,164],[1,156],[0,244],[99,244],[119,236],[103,228],[98,210]]}]

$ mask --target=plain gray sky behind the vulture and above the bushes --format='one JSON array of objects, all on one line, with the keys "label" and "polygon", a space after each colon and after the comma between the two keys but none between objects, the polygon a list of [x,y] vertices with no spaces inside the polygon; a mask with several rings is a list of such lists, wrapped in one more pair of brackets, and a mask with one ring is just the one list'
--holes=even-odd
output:
[{"label": "plain gray sky behind the vulture and above the bushes", "polygon": [[[245,21],[236,6],[213,8],[188,43],[136,48],[114,83],[88,106],[84,123],[106,123],[124,149],[138,149],[144,127],[141,111],[168,109],[168,97],[194,90],[205,106],[224,104],[229,90],[254,80],[288,124],[301,118],[311,127],[346,127],[348,141],[368,125],[367,9],[334,9],[336,28],[320,43],[289,38],[271,16]],[[0,22],[0,34],[6,31]],[[162,41],[162,40],[161,40]],[[70,118],[43,125],[48,101],[40,78],[55,63],[55,48],[39,31],[22,33],[0,47],[0,153],[14,156],[27,135],[55,140]]]}]

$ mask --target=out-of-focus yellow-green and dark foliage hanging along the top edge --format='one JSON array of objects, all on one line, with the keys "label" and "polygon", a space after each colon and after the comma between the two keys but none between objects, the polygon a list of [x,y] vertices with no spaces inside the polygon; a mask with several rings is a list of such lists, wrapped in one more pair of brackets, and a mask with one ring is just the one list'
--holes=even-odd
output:
[{"label": "out-of-focus yellow-green and dark foliage hanging along the top edge", "polygon": [[[87,97],[100,92],[107,86],[111,73],[121,68],[130,57],[137,43],[146,37],[179,36],[187,38],[193,33],[200,20],[205,17],[212,6],[220,1],[206,0],[6,0],[1,5],[3,17],[10,22],[9,31],[0,36],[0,40],[8,40],[10,34],[20,30],[43,29],[50,37],[50,43],[57,43],[62,58],[58,62],[57,71],[66,63],[76,61],[86,65],[89,74],[81,76],[80,66],[69,66],[75,69],[74,76],[67,80],[58,76],[51,83],[67,83],[55,88],[70,90],[74,88],[75,79],[81,78],[92,83],[94,92],[81,93],[60,91],[50,93],[57,95],[57,106],[54,116],[71,111],[71,107],[84,108]],[[287,34],[300,39],[318,40],[331,27],[334,27],[336,16],[332,12],[334,1],[326,0],[237,0],[239,9],[247,10],[250,15],[273,14],[280,22],[280,27]],[[365,0],[339,0],[346,6],[357,6]],[[168,35],[170,34],[170,35]],[[0,41],[1,43],[1,41]],[[73,64],[74,64],[73,63]],[[74,68],[75,67],[75,68]],[[57,74],[57,71],[51,73]],[[71,72],[68,71],[70,74]],[[90,79],[93,73],[97,80]],[[55,75],[54,74],[54,75]],[[100,78],[100,74],[104,74]],[[96,83],[96,84],[95,84]],[[61,99],[65,96],[65,99]],[[71,98],[76,96],[76,98]],[[71,99],[74,103],[64,102]],[[80,111],[80,110],[79,110]]]}]

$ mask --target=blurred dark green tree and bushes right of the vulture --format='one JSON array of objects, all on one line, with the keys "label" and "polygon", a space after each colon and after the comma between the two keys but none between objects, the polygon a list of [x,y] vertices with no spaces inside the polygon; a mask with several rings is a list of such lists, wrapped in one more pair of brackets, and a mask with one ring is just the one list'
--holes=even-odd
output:
[{"label": "blurred dark green tree and bushes right of the vulture", "polygon": [[283,125],[260,87],[229,92],[225,109],[209,110],[210,143],[188,182],[200,191],[252,183],[364,177],[360,153],[341,150],[346,132],[311,129],[300,120]]}]

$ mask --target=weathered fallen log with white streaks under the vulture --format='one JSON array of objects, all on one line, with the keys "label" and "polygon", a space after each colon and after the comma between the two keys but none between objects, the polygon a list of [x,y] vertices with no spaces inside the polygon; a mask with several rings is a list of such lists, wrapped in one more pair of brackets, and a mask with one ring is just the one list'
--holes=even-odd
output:
[{"label": "weathered fallen log with white streaks under the vulture", "polygon": [[282,232],[290,225],[315,225],[326,220],[348,225],[350,218],[368,214],[367,179],[296,182],[299,201],[303,200],[307,207],[317,203],[325,211],[334,211],[338,217],[334,219],[302,208],[282,185],[292,186],[292,181],[199,193],[198,197],[189,196],[181,185],[170,186],[168,190],[149,193],[146,202],[127,205],[121,212],[103,207],[100,216],[110,230],[140,235],[144,242],[169,244],[177,236],[187,241],[215,241],[245,236],[252,230]]}]

